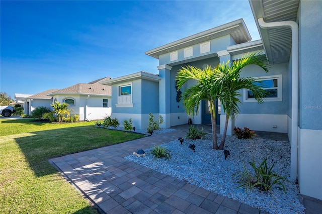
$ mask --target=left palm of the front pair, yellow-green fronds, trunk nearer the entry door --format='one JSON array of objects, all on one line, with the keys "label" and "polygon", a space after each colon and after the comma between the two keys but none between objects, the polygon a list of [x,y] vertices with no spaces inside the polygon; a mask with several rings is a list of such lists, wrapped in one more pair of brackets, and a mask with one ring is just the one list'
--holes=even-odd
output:
[{"label": "left palm of the front pair, yellow-green fronds, trunk nearer the entry door", "polygon": [[197,82],[181,94],[184,108],[188,115],[193,116],[198,114],[199,102],[202,99],[208,100],[212,126],[212,147],[213,149],[218,149],[215,101],[218,99],[218,95],[221,91],[221,85],[214,84],[214,82],[216,82],[216,75],[215,70],[211,68],[211,66],[208,66],[203,70],[189,65],[180,69],[177,75],[178,89],[191,79],[194,79]]}]

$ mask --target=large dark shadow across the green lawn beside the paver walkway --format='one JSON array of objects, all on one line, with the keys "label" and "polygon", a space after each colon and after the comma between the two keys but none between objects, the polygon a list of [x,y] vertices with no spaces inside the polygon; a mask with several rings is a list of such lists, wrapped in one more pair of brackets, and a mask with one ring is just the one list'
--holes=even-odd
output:
[{"label": "large dark shadow across the green lawn beside the paver walkway", "polygon": [[32,135],[16,138],[15,141],[35,175],[39,177],[57,172],[48,161],[51,158],[143,137],[140,134],[98,129],[94,126],[53,129],[30,134]]}]

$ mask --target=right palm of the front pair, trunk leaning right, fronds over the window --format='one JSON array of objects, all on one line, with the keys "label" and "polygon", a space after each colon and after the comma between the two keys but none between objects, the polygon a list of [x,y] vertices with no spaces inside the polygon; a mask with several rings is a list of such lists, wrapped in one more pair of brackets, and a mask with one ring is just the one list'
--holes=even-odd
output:
[{"label": "right palm of the front pair, trunk leaning right, fronds over the window", "polygon": [[261,86],[254,84],[254,81],[261,82],[260,79],[254,77],[240,77],[241,70],[247,65],[258,65],[269,72],[269,64],[266,57],[256,53],[245,55],[241,59],[234,61],[231,66],[230,62],[226,64],[222,63],[217,65],[215,73],[217,76],[216,84],[222,86],[222,91],[219,93],[219,99],[223,111],[226,113],[225,127],[223,131],[222,140],[219,145],[219,149],[223,150],[227,126],[229,118],[234,120],[240,113],[239,104],[242,102],[239,100],[241,96],[240,89],[249,89],[253,92],[255,99],[259,102],[263,102],[263,98],[267,95],[267,91]]}]

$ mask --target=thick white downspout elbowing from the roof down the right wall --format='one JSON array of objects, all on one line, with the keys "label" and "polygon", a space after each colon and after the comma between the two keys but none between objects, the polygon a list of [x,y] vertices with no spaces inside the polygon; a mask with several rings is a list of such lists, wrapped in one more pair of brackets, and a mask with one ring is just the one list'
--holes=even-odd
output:
[{"label": "thick white downspout elbowing from the roof down the right wall", "polygon": [[292,30],[292,123],[291,123],[291,179],[296,180],[298,174],[298,127],[299,127],[299,47],[298,25],[293,21],[264,22],[258,19],[261,28],[290,28]]}]

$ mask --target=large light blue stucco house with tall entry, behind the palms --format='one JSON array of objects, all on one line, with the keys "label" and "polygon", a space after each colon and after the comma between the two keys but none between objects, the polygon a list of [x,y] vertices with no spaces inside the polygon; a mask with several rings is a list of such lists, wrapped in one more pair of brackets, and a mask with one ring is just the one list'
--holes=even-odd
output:
[{"label": "large light blue stucco house with tall entry, behind the palms", "polygon": [[[132,118],[139,129],[147,127],[149,113],[163,116],[163,128],[187,124],[189,116],[177,99],[176,75],[181,67],[214,67],[261,52],[271,62],[270,72],[247,66],[243,76],[262,78],[272,94],[258,104],[244,89],[241,114],[230,121],[227,134],[235,126],[287,133],[291,178],[298,179],[301,194],[322,199],[322,2],[250,0],[250,6],[261,40],[252,41],[239,19],[146,51],[159,61],[157,74],[141,71],[102,82],[112,86],[112,117],[121,122]],[[188,82],[181,90],[193,84]],[[220,101],[217,118],[217,125],[224,124]],[[200,102],[192,123],[210,124],[206,101]]]}]

